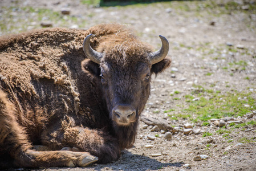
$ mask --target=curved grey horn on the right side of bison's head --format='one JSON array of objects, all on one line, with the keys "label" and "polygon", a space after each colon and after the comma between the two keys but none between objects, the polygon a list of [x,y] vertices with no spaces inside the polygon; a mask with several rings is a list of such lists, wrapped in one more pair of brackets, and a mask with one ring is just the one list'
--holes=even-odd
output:
[{"label": "curved grey horn on the right side of bison's head", "polygon": [[168,40],[164,36],[159,35],[159,37],[162,41],[162,47],[160,48],[160,50],[158,50],[156,52],[152,52],[151,54],[149,54],[151,64],[155,64],[155,63],[160,62],[162,59],[165,58],[165,56],[168,54],[168,51],[169,51],[169,42],[168,42]]}]

